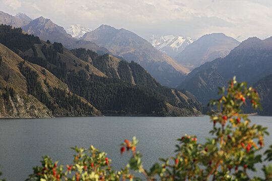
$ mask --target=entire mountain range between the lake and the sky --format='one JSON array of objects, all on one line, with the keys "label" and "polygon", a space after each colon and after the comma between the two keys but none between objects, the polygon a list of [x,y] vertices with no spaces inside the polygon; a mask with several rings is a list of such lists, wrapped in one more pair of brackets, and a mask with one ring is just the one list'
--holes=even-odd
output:
[{"label": "entire mountain range between the lake and the sky", "polygon": [[[14,96],[22,96],[23,92],[18,91],[17,86],[27,86],[24,95],[37,99],[40,104],[37,108],[47,107],[46,117],[101,113],[199,115],[207,110],[201,103],[207,104],[216,98],[217,87],[225,86],[234,75],[238,81],[247,81],[260,92],[263,111],[258,114],[271,114],[272,38],[253,37],[240,43],[222,33],[204,35],[194,42],[182,37],[153,36],[152,45],[133,32],[108,25],[101,25],[77,39],[43,17],[31,20],[25,14],[11,16],[0,12],[1,23],[21,26],[24,30],[1,26],[0,68],[2,62],[4,69],[0,79],[3,95],[0,104],[5,109],[2,117],[13,117],[20,112],[22,105],[17,104],[18,99]],[[72,28],[81,30],[80,26]],[[186,41],[192,43],[175,57],[178,62],[161,52],[166,49],[158,50],[168,46],[176,51],[181,42]],[[7,48],[12,52],[7,53]],[[7,68],[8,62],[13,62],[7,59],[7,54],[21,57],[15,61],[17,67],[12,63],[12,68]],[[13,73],[9,74],[7,70]],[[18,71],[27,80],[24,85],[17,84],[14,79]],[[50,82],[58,83],[53,86]],[[172,87],[178,85],[178,89],[161,83]],[[31,104],[35,105],[34,102]],[[35,111],[39,113],[37,115],[28,112],[18,117],[39,117],[40,110]],[[26,112],[27,109],[23,111]]]}]

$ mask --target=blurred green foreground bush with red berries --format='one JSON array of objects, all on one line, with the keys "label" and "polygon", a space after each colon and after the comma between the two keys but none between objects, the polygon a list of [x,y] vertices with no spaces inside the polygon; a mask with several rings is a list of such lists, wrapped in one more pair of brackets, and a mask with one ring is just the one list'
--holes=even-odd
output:
[{"label": "blurred green foreground bush with red berries", "polygon": [[[255,89],[247,88],[245,82],[229,82],[226,89],[221,88],[221,98],[211,100],[211,106],[218,111],[209,113],[213,129],[212,139],[204,144],[197,143],[196,136],[184,135],[178,139],[176,155],[160,159],[150,170],[143,167],[138,140],[124,140],[121,154],[131,151],[127,167],[120,171],[110,166],[106,153],[91,146],[72,148],[76,151],[73,165],[58,165],[50,157],[44,156],[41,166],[33,168],[27,180],[141,180],[134,172],[141,172],[147,180],[272,180],[272,165],[263,165],[264,177],[248,176],[248,171],[256,171],[256,163],[272,160],[272,146],[263,155],[257,154],[264,146],[263,136],[266,128],[250,125],[247,115],[241,114],[241,106],[250,104],[254,109],[260,106]],[[247,105],[249,106],[249,105]],[[130,169],[130,170],[129,170]]]}]

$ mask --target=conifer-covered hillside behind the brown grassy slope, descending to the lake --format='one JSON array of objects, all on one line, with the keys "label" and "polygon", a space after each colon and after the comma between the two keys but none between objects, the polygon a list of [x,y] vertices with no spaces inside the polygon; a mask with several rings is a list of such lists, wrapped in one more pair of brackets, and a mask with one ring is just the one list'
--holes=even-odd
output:
[{"label": "conifer-covered hillside behind the brown grassy slope, descending to the lake", "polygon": [[[25,60],[49,70],[67,83],[73,93],[84,97],[105,114],[200,114],[198,110],[201,110],[202,106],[198,102],[193,101],[195,104],[191,106],[187,100],[177,99],[172,89],[160,85],[134,62],[127,63],[108,54],[98,55],[91,51],[87,53],[87,58],[78,53],[83,61],[60,43],[43,42],[38,37],[24,35],[21,29],[12,29],[10,26],[1,26],[1,31],[1,43],[16,51]],[[6,35],[10,36],[10,39],[5,39]],[[15,46],[16,42],[11,43],[13,35],[19,37],[16,38],[19,45],[26,45]],[[25,48],[26,46],[29,49]]]}]

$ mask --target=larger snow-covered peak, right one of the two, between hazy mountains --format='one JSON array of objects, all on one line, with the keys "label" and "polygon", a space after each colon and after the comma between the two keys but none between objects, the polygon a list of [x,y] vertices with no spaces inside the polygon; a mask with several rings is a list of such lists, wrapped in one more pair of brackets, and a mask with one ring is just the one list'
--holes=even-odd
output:
[{"label": "larger snow-covered peak, right one of the two, between hazy mountains", "polygon": [[149,42],[158,50],[174,58],[178,53],[184,50],[186,46],[191,44],[193,40],[189,37],[184,38],[182,36],[152,35]]}]

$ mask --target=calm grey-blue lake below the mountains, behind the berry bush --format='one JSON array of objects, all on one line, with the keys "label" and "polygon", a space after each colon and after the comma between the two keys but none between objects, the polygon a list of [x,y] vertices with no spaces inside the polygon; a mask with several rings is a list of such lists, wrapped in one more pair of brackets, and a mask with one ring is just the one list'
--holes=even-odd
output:
[{"label": "calm grey-blue lake below the mountains, behind the berry bush", "polygon": [[[268,127],[272,134],[272,117],[250,117],[252,123]],[[177,138],[185,133],[196,135],[198,142],[211,137],[213,124],[204,117],[60,117],[51,119],[0,119],[1,178],[25,180],[32,167],[40,165],[42,155],[49,155],[59,164],[71,164],[71,147],[94,145],[108,153],[111,165],[120,169],[127,164],[129,154],[120,155],[120,143],[133,136],[139,139],[137,150],[143,156],[145,168],[158,158],[174,155]],[[264,138],[266,146],[272,137]]]}]

